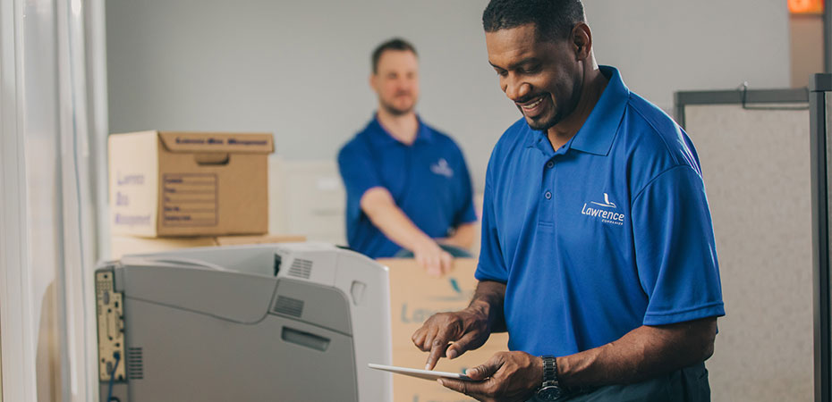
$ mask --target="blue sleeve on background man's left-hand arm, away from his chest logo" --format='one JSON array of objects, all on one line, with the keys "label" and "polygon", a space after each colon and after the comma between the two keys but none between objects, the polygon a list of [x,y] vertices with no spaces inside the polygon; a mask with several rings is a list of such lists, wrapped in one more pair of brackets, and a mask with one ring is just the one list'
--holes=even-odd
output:
[{"label": "blue sleeve on background man's left-hand arm, away from his chest logo", "polygon": [[368,147],[351,142],[338,153],[338,170],[346,188],[347,219],[361,216],[361,197],[370,188],[383,187]]}]

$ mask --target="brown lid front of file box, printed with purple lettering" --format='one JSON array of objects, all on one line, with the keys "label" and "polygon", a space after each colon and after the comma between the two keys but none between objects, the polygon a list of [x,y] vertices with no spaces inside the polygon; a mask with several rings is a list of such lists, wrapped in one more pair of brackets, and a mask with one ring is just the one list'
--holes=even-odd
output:
[{"label": "brown lid front of file box, printed with purple lettering", "polygon": [[158,131],[158,134],[171,152],[270,154],[275,151],[269,133]]}]

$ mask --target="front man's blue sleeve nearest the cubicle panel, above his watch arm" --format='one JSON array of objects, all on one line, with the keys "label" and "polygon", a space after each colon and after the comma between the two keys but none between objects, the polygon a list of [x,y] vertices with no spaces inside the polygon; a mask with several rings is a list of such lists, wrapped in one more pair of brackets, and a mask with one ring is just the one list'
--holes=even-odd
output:
[{"label": "front man's blue sleeve nearest the cubicle panel, above his watch arm", "polygon": [[705,187],[690,166],[658,175],[632,201],[644,325],[725,315]]}]

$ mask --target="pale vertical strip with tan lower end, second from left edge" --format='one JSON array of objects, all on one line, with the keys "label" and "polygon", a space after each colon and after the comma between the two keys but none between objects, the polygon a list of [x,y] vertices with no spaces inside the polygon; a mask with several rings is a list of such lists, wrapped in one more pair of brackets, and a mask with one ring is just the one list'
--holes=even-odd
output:
[{"label": "pale vertical strip with tan lower end, second from left edge", "polygon": [[21,66],[23,138],[28,209],[33,337],[36,341],[38,401],[61,398],[61,325],[56,286],[63,264],[60,137],[58,133],[57,31],[55,2],[24,2]]}]

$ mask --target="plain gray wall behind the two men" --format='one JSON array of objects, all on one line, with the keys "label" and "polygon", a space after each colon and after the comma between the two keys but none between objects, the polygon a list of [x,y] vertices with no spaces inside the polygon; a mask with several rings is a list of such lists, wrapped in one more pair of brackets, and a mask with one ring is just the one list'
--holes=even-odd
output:
[{"label": "plain gray wall behind the two men", "polygon": [[[376,106],[369,52],[400,35],[420,51],[425,121],[463,147],[481,189],[520,117],[488,66],[485,0],[110,0],[110,132],[266,130],[288,159],[334,158]],[[782,0],[587,0],[600,63],[666,110],[680,89],[789,83]]]}]

